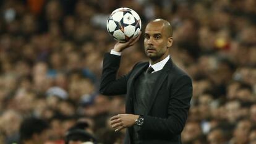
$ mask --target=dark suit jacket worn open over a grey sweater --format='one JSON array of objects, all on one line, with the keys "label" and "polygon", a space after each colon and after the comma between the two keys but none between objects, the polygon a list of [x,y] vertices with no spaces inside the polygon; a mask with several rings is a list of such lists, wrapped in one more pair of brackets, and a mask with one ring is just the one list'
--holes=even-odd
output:
[{"label": "dark suit jacket worn open over a grey sweater", "polygon": [[[106,54],[100,93],[103,95],[126,94],[126,113],[134,113],[134,82],[147,68],[149,62],[138,63],[121,78],[116,79],[121,56]],[[181,143],[181,132],[187,120],[192,97],[190,77],[173,64],[171,59],[165,64],[155,83],[144,123],[139,130],[142,143]],[[125,143],[132,143],[132,127],[128,128]]]}]

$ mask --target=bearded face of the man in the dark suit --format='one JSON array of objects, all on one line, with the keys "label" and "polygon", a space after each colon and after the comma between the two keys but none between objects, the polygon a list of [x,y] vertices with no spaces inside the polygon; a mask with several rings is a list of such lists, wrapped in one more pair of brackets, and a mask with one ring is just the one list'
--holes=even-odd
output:
[{"label": "bearded face of the man in the dark suit", "polygon": [[159,62],[168,56],[173,38],[168,36],[166,25],[163,22],[150,22],[145,29],[145,53],[153,62]]}]

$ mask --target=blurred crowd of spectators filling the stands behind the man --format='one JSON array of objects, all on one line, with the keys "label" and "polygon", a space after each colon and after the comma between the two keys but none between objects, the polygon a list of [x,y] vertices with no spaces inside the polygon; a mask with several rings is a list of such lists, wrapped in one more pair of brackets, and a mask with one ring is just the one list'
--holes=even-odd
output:
[{"label": "blurred crowd of spectators filling the stands behind the man", "polygon": [[[69,143],[77,127],[98,143],[122,143],[108,119],[125,112],[124,96],[98,93],[116,43],[106,19],[118,7],[134,9],[143,29],[156,18],[174,27],[171,57],[194,86],[184,144],[256,143],[255,0],[1,0],[0,143],[19,142],[28,117],[49,125],[45,144]],[[141,37],[118,76],[148,60]]]}]

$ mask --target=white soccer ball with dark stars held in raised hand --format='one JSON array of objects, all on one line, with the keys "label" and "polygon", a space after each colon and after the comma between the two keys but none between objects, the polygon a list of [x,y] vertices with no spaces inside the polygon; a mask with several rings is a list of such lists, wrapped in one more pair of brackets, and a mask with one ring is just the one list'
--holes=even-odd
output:
[{"label": "white soccer ball with dark stars held in raised hand", "polygon": [[142,22],[137,12],[127,7],[121,7],[111,13],[106,27],[114,40],[124,43],[139,35]]}]

